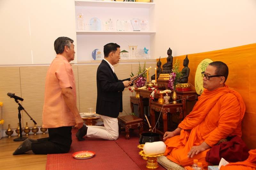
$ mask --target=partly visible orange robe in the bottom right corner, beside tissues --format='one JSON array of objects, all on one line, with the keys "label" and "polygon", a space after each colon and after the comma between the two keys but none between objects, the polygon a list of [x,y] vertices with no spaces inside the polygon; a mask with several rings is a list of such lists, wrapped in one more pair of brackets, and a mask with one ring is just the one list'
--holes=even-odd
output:
[{"label": "partly visible orange robe in the bottom right corner, beside tissues", "polygon": [[249,151],[249,154],[248,159],[245,161],[221,166],[220,170],[256,170],[256,149]]}]

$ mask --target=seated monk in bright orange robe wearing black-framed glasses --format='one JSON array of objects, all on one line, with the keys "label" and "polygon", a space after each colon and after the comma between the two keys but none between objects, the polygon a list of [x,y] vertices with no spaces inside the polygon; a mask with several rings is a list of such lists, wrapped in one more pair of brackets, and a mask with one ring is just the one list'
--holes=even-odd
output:
[{"label": "seated monk in bright orange robe wearing black-framed glasses", "polygon": [[198,159],[204,167],[206,152],[220,139],[242,136],[241,122],[245,105],[241,95],[228,88],[228,66],[210,63],[202,72],[204,92],[193,110],[172,132],[164,133],[164,155],[181,166],[191,166]]}]

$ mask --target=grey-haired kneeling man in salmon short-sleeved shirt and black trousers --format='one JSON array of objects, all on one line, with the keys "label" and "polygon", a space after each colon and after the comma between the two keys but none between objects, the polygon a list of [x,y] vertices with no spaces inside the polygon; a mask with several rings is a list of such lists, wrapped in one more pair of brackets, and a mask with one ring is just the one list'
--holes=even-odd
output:
[{"label": "grey-haired kneeling man in salmon short-sleeved shirt and black trousers", "polygon": [[45,81],[43,128],[49,137],[26,139],[13,155],[32,150],[35,154],[67,153],[72,143],[72,126],[81,128],[83,120],[76,107],[76,84],[70,61],[74,60],[73,40],[59,37],[54,41],[56,58],[52,61]]}]

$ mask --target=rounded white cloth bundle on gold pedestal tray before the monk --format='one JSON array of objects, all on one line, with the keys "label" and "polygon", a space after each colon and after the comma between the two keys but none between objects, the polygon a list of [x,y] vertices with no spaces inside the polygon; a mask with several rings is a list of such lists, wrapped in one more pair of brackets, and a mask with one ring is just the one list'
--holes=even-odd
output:
[{"label": "rounded white cloth bundle on gold pedestal tray before the monk", "polygon": [[166,145],[162,141],[158,142],[146,142],[143,147],[143,151],[146,155],[157,155],[165,152]]}]

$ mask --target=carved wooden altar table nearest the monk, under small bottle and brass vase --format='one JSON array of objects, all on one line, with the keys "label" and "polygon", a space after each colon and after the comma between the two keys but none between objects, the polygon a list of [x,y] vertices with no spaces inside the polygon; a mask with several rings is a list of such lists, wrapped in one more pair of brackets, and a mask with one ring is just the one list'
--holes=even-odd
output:
[{"label": "carved wooden altar table nearest the monk, under small bottle and brass vase", "polygon": [[[163,108],[163,110],[162,110]],[[184,118],[183,111],[182,111],[182,103],[177,103],[177,104],[160,104],[156,101],[150,101],[150,117],[151,117],[151,126],[154,128],[156,126],[156,112],[161,112],[162,110],[162,118],[163,118],[163,123],[164,123],[164,132],[166,132],[167,129],[167,114],[168,113],[176,113],[179,112],[180,114],[180,120],[181,122]],[[162,135],[164,135],[164,132],[156,129],[156,131]]]}]

